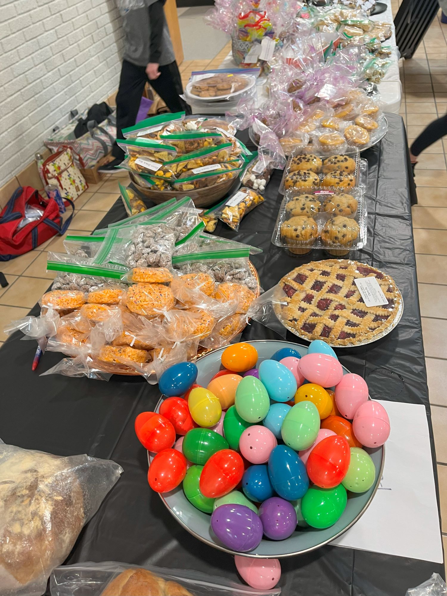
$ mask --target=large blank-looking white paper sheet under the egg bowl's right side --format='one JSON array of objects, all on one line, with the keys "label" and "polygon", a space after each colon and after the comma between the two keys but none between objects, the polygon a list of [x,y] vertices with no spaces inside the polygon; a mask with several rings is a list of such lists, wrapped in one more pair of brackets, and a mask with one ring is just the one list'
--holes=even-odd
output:
[{"label": "large blank-looking white paper sheet under the egg bowl's right side", "polygon": [[379,403],[391,426],[380,487],[358,522],[331,544],[442,563],[426,409]]}]

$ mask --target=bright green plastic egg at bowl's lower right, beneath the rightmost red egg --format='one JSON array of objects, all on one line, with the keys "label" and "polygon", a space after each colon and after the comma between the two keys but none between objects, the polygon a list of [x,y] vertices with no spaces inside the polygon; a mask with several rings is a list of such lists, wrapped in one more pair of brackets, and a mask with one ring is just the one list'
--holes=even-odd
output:
[{"label": "bright green plastic egg at bowl's lower right, beneath the rightmost red egg", "polygon": [[340,519],[347,503],[346,489],[311,486],[301,499],[301,513],[309,526],[322,529],[333,526]]}]

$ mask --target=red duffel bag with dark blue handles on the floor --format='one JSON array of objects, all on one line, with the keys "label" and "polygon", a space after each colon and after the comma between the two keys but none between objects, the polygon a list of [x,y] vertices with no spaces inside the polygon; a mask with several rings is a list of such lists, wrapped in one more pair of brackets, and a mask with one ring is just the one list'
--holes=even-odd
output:
[{"label": "red duffel bag with dark blue handles on the floor", "polygon": [[[66,201],[70,203],[74,213],[73,201]],[[39,219],[20,226],[20,222],[26,218],[26,207],[34,207],[44,213]],[[0,261],[14,259],[19,254],[35,249],[55,234],[64,234],[72,221],[73,213],[63,224],[54,198],[44,200],[35,188],[18,187],[0,213]]]}]

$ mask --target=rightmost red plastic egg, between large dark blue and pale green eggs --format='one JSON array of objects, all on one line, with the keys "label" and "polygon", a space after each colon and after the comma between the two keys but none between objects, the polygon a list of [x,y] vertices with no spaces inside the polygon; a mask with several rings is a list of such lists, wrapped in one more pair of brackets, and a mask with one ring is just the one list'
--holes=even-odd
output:
[{"label": "rightmost red plastic egg, between large dark blue and pale green eggs", "polygon": [[346,476],[351,454],[347,440],[335,435],[316,445],[308,457],[309,480],[320,488],[334,488]]}]

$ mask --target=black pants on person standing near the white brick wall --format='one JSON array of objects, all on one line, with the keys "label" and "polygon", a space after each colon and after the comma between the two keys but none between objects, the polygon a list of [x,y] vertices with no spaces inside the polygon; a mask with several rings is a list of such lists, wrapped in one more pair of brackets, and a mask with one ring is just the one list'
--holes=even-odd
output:
[{"label": "black pants on person standing near the white brick wall", "polygon": [[[158,79],[149,80],[144,66],[135,66],[123,60],[120,85],[116,96],[116,128],[117,138],[123,139],[123,128],[134,126],[141,102],[144,85],[149,81],[151,87],[160,95],[170,111],[188,110],[188,105],[179,97],[183,93],[182,79],[177,63],[174,61],[159,67]],[[124,151],[116,143],[112,149],[113,157],[124,159]]]}]

